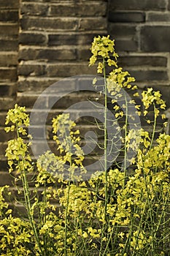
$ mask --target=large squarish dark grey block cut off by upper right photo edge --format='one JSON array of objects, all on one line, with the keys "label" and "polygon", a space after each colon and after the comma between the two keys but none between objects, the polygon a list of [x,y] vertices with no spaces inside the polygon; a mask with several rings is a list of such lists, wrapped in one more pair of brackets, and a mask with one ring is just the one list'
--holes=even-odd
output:
[{"label": "large squarish dark grey block cut off by upper right photo edge", "polygon": [[170,51],[170,26],[144,26],[141,30],[141,50]]}]

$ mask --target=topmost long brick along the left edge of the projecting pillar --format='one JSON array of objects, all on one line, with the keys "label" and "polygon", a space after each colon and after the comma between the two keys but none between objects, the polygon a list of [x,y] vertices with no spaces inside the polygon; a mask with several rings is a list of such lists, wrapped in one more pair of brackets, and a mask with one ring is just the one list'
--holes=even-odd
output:
[{"label": "topmost long brick along the left edge of the projecting pillar", "polygon": [[51,31],[56,29],[76,30],[78,28],[77,18],[31,18],[23,17],[20,20],[22,29]]}]

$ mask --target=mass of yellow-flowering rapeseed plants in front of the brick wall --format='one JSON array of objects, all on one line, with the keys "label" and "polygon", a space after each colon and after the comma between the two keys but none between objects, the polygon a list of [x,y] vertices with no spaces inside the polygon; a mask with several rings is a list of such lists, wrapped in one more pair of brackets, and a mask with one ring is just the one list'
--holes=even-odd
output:
[{"label": "mass of yellow-flowering rapeseed plants in front of the brick wall", "polygon": [[[69,114],[53,118],[53,140],[59,154],[47,151],[33,162],[26,141],[30,137],[26,109],[15,105],[9,110],[6,132],[14,132],[15,139],[9,140],[6,156],[9,173],[15,178],[15,203],[25,211],[15,217],[7,203],[10,188],[1,187],[2,256],[169,255],[170,136],[160,132],[155,138],[158,117],[165,118],[161,114],[165,102],[159,91],[143,91],[142,107],[136,105],[136,114],[146,118],[152,132],[131,129],[133,116],[124,92],[132,91],[139,97],[134,78],[118,67],[114,41],[109,36],[95,37],[91,52],[90,65],[97,62],[97,72],[104,76],[104,170],[96,170],[88,181],[82,181],[85,156],[80,131]],[[109,74],[108,67],[113,67]],[[123,164],[115,162],[111,167],[107,152],[109,94],[114,96],[112,111],[123,131]],[[123,110],[119,105],[122,94]],[[136,151],[133,157],[128,155],[130,149]]]}]

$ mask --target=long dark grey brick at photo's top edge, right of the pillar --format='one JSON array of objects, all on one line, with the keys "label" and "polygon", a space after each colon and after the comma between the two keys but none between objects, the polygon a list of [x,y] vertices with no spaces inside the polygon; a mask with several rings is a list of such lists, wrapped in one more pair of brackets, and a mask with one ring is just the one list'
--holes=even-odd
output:
[{"label": "long dark grey brick at photo's top edge, right of the pillar", "polygon": [[110,0],[112,10],[165,10],[166,0]]}]

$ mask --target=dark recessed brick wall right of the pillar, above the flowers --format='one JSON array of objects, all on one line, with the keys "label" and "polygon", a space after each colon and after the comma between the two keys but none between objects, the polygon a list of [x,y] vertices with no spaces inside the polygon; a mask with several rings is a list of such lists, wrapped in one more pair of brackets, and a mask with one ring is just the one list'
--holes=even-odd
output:
[{"label": "dark recessed brick wall right of the pillar, above the flowers", "polygon": [[109,0],[108,33],[137,84],[160,89],[170,107],[170,1]]}]

